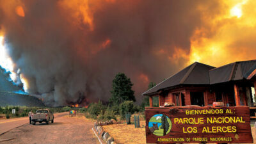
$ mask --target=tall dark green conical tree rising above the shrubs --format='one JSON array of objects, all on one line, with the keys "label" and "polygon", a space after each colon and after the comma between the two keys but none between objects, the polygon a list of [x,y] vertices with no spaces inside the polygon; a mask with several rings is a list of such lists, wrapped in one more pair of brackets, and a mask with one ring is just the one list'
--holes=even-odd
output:
[{"label": "tall dark green conical tree rising above the shrubs", "polygon": [[113,79],[111,98],[109,102],[111,105],[118,105],[125,100],[136,101],[134,97],[134,91],[132,90],[131,79],[125,76],[124,73],[118,73]]}]

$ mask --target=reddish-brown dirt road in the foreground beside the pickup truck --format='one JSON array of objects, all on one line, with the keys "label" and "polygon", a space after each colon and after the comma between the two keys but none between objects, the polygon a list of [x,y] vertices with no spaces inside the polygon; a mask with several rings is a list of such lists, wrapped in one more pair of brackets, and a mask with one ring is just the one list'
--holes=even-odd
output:
[{"label": "reddish-brown dirt road in the foreground beside the pickup truck", "polygon": [[[0,135],[0,143],[88,143],[99,144],[97,137],[93,134],[93,122],[86,118],[69,117],[65,115],[54,116],[54,123],[46,125],[21,125]],[[13,121],[19,122],[19,121]],[[10,122],[10,123],[13,123]],[[22,120],[20,120],[22,122]],[[4,123],[8,125],[8,122]],[[2,129],[3,124],[0,124]]]}]

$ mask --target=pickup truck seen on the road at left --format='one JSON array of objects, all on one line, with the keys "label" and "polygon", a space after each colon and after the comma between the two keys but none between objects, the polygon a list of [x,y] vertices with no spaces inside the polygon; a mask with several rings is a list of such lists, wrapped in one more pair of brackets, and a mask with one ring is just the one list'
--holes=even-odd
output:
[{"label": "pickup truck seen on the road at left", "polygon": [[49,124],[49,121],[52,123],[54,121],[54,115],[50,109],[38,109],[35,114],[31,115],[31,122],[33,125],[35,125],[36,122],[46,122],[46,124]]}]

